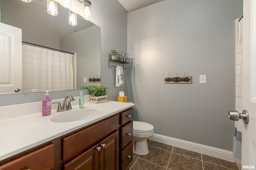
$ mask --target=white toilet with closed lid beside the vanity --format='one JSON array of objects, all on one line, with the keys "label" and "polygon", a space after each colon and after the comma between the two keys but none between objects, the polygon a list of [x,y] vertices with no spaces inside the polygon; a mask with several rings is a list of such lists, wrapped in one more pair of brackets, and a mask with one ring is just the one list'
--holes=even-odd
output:
[{"label": "white toilet with closed lid beside the vanity", "polygon": [[133,153],[138,155],[148,154],[147,139],[153,135],[153,125],[142,121],[133,121]]}]

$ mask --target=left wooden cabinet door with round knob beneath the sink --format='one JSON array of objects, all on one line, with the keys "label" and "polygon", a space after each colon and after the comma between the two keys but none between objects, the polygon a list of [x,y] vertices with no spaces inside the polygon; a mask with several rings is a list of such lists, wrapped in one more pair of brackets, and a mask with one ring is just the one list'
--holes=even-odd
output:
[{"label": "left wooden cabinet door with round knob beneath the sink", "polygon": [[64,164],[64,170],[98,170],[99,151],[95,145],[80,156]]}]

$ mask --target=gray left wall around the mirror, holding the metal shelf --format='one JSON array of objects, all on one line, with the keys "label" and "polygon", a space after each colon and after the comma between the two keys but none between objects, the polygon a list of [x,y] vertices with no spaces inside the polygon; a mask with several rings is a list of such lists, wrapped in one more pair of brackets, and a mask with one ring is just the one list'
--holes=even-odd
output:
[{"label": "gray left wall around the mirror, holding the metal shelf", "polygon": [[[125,85],[115,87],[115,69],[108,68],[108,54],[111,49],[127,51],[127,11],[117,0],[92,2],[92,21],[101,27],[101,84],[109,87],[108,100],[117,101],[119,91],[127,94],[127,80]],[[124,72],[127,79],[127,71]],[[72,93],[76,92],[77,93]],[[80,90],[65,91],[67,93],[49,92],[54,98],[64,98],[67,94],[79,96]],[[0,106],[38,102],[44,99],[45,92],[24,94],[0,95]],[[86,95],[84,93],[84,95]],[[54,99],[51,97],[51,99]]]}]

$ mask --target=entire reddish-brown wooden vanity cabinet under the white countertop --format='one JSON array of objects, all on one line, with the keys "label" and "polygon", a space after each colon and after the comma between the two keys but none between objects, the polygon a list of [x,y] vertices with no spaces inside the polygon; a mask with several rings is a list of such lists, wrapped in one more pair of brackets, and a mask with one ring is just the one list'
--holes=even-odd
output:
[{"label": "entire reddish-brown wooden vanity cabinet under the white countertop", "polygon": [[124,170],[132,161],[132,118],[126,109],[1,160],[0,170]]}]

